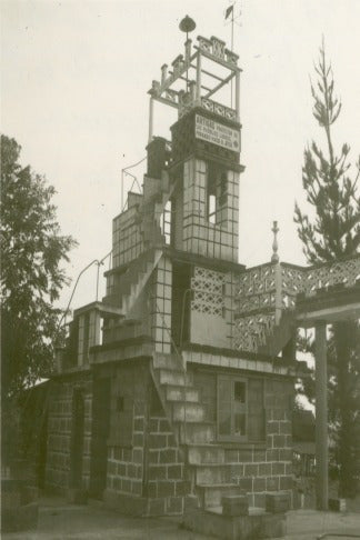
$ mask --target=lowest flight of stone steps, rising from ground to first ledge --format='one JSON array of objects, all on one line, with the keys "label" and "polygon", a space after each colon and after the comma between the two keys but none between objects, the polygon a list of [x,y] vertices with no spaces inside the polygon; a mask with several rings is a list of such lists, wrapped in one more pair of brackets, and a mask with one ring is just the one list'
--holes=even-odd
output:
[{"label": "lowest flight of stone steps, rising from ground to first ledge", "polygon": [[192,373],[186,372],[177,354],[153,353],[152,377],[183,451],[187,480],[200,508],[219,507],[223,496],[242,493],[231,481],[231,463],[226,462],[224,448],[216,442],[216,424],[206,420]]}]

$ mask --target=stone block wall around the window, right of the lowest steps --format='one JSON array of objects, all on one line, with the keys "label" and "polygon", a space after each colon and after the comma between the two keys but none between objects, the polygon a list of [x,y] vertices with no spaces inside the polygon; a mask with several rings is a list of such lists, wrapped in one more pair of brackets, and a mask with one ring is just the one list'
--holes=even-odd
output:
[{"label": "stone block wall around the window, right of the lowest steps", "polygon": [[[212,372],[211,372],[212,371]],[[200,390],[206,420],[217,422],[217,377],[213,369],[193,370],[194,387]],[[224,371],[223,371],[224,373]],[[238,376],[248,378],[246,372]],[[249,504],[264,508],[268,491],[289,491],[292,494],[291,408],[293,382],[257,373],[254,381],[263,388],[263,438],[257,442],[220,441],[224,448],[228,481],[238,483],[247,493]],[[249,417],[249,422],[250,422]],[[250,430],[249,433],[256,430]]]}]

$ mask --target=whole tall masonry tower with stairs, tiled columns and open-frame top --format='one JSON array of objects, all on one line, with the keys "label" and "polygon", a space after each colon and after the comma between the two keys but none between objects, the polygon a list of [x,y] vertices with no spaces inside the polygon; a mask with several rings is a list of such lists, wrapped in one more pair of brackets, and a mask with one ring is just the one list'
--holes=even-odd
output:
[{"label": "whole tall masonry tower with stairs, tiled columns and open-frame top", "polygon": [[[49,488],[138,516],[291,494],[281,276],[300,270],[238,263],[240,72],[199,37],[152,82],[142,192],[113,219],[106,296],[74,311],[50,381]],[[161,106],[178,111],[171,141],[153,133]]]}]

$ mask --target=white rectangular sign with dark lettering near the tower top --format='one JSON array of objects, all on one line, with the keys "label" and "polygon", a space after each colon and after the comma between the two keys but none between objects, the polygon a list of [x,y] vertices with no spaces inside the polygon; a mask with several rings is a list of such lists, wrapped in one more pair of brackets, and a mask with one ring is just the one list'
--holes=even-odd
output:
[{"label": "white rectangular sign with dark lettering near the tower top", "polygon": [[200,114],[196,114],[196,138],[240,152],[240,132],[238,130]]}]

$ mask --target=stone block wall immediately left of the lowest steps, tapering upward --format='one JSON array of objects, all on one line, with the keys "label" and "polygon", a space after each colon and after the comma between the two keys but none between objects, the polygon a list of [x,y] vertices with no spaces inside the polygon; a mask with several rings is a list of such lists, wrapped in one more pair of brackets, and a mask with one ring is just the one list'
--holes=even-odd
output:
[{"label": "stone block wall immediately left of the lowest steps, tapering upward", "polygon": [[[104,500],[119,510],[141,516],[181,514],[190,486],[184,462],[146,367],[116,368],[113,388],[132,396],[131,438],[110,421]],[[112,390],[113,398],[117,393]],[[114,400],[116,403],[116,400]],[[118,414],[111,407],[111,416]],[[128,426],[128,424],[127,424]],[[120,431],[119,431],[120,429]],[[116,432],[114,432],[116,430]],[[121,446],[121,437],[127,441]],[[127,500],[126,500],[127,499]],[[132,502],[131,502],[132,501]]]}]

